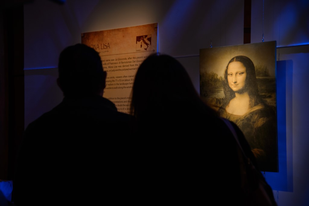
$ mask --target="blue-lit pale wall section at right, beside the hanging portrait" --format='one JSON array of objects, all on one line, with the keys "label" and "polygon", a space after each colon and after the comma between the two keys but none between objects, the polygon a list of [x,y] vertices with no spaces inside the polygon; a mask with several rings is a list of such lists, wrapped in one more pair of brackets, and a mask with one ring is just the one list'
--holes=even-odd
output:
[{"label": "blue-lit pale wall section at right, beside the hanging portrait", "polygon": [[277,90],[285,95],[279,97],[285,107],[278,113],[285,114],[286,127],[278,126],[278,138],[286,140],[286,148],[279,147],[279,173],[266,174],[279,205],[309,204],[308,11],[309,1],[252,0],[251,43],[261,42],[263,33],[265,41],[277,41]]}]

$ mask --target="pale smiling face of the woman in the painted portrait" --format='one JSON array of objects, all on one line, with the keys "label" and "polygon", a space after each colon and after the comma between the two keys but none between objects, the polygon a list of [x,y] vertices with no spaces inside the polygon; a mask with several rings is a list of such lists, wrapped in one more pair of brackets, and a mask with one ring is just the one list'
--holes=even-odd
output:
[{"label": "pale smiling face of the woman in the painted portrait", "polygon": [[245,86],[246,67],[241,62],[231,62],[227,67],[227,81],[230,88],[237,92]]}]

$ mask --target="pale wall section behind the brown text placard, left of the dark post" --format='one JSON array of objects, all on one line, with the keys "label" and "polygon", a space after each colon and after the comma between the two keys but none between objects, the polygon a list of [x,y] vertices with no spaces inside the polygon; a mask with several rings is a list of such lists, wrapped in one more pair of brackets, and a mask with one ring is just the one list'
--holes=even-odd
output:
[{"label": "pale wall section behind the brown text placard, left of the dark post", "polygon": [[25,127],[61,101],[58,56],[82,32],[158,23],[158,51],[179,59],[198,92],[199,49],[243,43],[242,0],[42,0],[25,4],[24,22]]}]

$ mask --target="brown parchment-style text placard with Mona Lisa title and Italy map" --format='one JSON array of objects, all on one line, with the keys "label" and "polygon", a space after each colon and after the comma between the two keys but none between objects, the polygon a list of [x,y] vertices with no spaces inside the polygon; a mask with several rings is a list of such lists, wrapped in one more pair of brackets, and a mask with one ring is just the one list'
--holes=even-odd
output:
[{"label": "brown parchment-style text placard with Mona Lisa title and Italy map", "polygon": [[82,33],[82,44],[94,48],[107,71],[103,97],[118,111],[129,113],[131,91],[139,65],[157,53],[158,23]]}]

